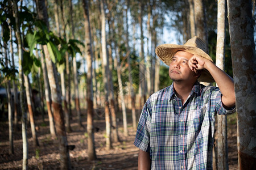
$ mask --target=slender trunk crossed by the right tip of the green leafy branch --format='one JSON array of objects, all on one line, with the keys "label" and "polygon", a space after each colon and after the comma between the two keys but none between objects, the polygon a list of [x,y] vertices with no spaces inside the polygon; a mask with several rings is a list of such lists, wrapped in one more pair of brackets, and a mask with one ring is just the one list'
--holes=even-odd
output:
[{"label": "slender trunk crossed by the right tip of the green leafy branch", "polygon": [[[69,0],[69,12],[71,15],[71,37],[74,39],[75,32],[74,32],[74,24],[73,24],[73,8],[72,8],[72,1]],[[81,111],[80,111],[80,101],[79,101],[79,84],[78,84],[78,77],[77,77],[77,64],[76,64],[76,56],[73,56],[73,77],[74,77],[74,86],[75,86],[75,105],[76,105],[76,114],[77,114],[77,122],[79,128],[82,128],[82,119],[81,119]]]}]

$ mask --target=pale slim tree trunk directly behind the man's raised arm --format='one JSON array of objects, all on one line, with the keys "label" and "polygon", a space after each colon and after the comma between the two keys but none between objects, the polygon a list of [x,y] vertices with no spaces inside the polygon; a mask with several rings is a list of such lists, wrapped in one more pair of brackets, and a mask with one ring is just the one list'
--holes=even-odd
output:
[{"label": "pale slim tree trunk directly behind the man's raised arm", "polygon": [[[218,24],[217,24],[217,48],[216,48],[216,66],[224,70],[225,59],[225,23],[226,23],[226,1],[218,1]],[[226,115],[217,115],[218,117],[218,170],[229,169],[228,165],[228,143]]]}]

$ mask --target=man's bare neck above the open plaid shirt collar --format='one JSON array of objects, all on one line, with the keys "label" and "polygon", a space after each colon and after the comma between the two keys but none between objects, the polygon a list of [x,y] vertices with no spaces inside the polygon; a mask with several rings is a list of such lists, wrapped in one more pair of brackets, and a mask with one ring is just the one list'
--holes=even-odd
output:
[{"label": "man's bare neck above the open plaid shirt collar", "polygon": [[195,83],[174,82],[175,94],[181,99],[182,104],[187,100],[194,84]]}]

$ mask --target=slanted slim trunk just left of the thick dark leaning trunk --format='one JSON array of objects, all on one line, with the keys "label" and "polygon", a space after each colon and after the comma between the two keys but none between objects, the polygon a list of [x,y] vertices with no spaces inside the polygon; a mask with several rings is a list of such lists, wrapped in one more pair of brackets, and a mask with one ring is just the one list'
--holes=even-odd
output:
[{"label": "slanted slim trunk just left of the thick dark leaning trunk", "polygon": [[[43,50],[43,46],[41,46],[41,49]],[[51,108],[51,90],[49,88],[49,79],[47,75],[47,69],[46,69],[46,62],[44,62],[44,53],[41,50],[41,63],[42,63],[42,70],[43,70],[43,77],[44,77],[44,93],[46,95],[46,106],[47,106],[47,113],[49,118],[49,130],[52,135],[52,137],[56,137],[56,129],[54,125],[54,119],[52,114],[52,108]]]}]

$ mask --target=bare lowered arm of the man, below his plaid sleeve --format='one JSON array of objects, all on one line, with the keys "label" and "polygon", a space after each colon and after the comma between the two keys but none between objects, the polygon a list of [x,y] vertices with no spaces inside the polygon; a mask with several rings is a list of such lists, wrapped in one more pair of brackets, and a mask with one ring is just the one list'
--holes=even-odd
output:
[{"label": "bare lowered arm of the man, below his plaid sleeve", "polygon": [[150,160],[149,152],[144,152],[142,150],[139,150],[138,169],[146,170],[146,169],[150,169],[150,167],[151,167],[151,160]]}]

